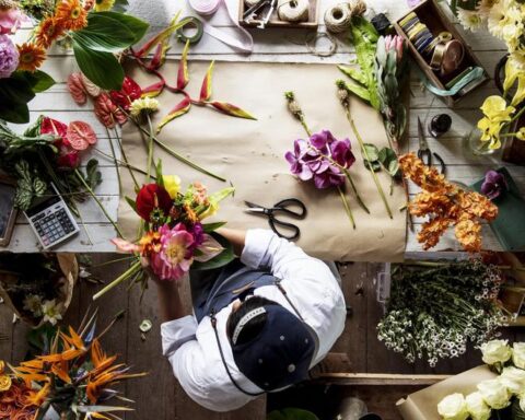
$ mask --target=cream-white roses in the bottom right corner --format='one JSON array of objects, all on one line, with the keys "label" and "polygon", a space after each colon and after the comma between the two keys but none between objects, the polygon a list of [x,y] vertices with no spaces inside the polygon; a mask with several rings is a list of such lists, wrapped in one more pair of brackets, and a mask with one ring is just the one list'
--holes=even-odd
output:
[{"label": "cream-white roses in the bottom right corner", "polygon": [[525,418],[525,342],[492,340],[481,346],[482,361],[500,376],[477,385],[464,396],[446,396],[438,405],[443,420],[489,420]]}]

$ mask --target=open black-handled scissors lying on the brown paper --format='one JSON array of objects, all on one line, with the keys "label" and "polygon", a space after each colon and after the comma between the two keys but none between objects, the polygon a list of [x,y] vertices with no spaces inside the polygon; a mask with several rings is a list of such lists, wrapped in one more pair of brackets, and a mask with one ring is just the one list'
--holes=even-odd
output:
[{"label": "open black-handled scissors lying on the brown paper", "polygon": [[[273,205],[273,207],[267,208],[264,206],[255,205],[249,201],[244,201],[249,213],[265,214],[268,217],[268,223],[271,230],[277,233],[278,236],[289,241],[294,241],[301,235],[301,230],[293,223],[283,222],[276,218],[276,213],[282,213],[293,219],[302,220],[306,217],[306,206],[296,198],[287,198]],[[279,230],[279,226],[281,230]],[[291,231],[292,234],[284,234],[282,230]]]}]

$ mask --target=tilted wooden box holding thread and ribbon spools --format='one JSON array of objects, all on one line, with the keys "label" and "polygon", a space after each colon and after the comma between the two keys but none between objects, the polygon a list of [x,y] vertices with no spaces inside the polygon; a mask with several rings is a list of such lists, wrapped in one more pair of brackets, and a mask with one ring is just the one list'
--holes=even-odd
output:
[{"label": "tilted wooden box holding thread and ribbon spools", "polygon": [[[456,71],[445,77],[440,77],[431,69],[427,60],[419,54],[419,51],[416,49],[416,47],[410,42],[408,36],[405,34],[405,31],[399,25],[399,22],[411,12],[416,13],[417,16],[420,19],[420,21],[428,26],[429,31],[432,33],[433,36],[438,36],[441,32],[446,31],[446,32],[450,32],[455,39],[459,40],[463,44],[463,46],[465,47],[465,57],[463,59],[462,65]],[[416,62],[419,65],[421,71],[438,89],[446,90],[445,84],[452,81],[458,74],[460,74],[468,67],[482,68],[481,62],[474,55],[469,45],[465,42],[465,39],[459,34],[459,32],[456,31],[454,24],[450,22],[450,20],[445,16],[445,14],[443,13],[443,11],[441,10],[441,8],[439,7],[435,0],[422,1],[416,8],[410,10],[410,12],[408,12],[407,14],[398,19],[394,23],[394,27],[396,28],[396,32],[407,40],[408,47],[410,49],[410,54],[416,60]],[[462,90],[456,95],[444,96],[443,98],[450,107],[454,107],[454,105],[456,105],[456,103],[463,96],[471,92],[474,89],[481,86],[488,80],[489,80],[489,75],[487,74],[487,71],[483,71],[483,78],[480,78],[476,83],[470,83],[469,85],[467,85],[468,89],[466,89],[465,92],[462,92],[464,91]]]}]

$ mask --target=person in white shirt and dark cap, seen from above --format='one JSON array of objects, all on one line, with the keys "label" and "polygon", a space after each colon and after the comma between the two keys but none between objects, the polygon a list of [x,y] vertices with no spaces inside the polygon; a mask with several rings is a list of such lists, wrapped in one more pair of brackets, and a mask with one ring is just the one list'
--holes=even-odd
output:
[{"label": "person in white shirt and dark cap, seen from above", "polygon": [[155,280],[163,353],[185,392],[214,411],[308,377],[345,328],[328,266],[271,231],[221,229],[240,260],[190,275],[194,314],[176,282]]}]

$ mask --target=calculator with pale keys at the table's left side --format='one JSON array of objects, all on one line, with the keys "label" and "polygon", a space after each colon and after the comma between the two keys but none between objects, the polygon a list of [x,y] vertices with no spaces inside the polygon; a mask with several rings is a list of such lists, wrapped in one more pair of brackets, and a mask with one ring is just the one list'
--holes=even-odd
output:
[{"label": "calculator with pale keys at the table's left side", "polygon": [[37,198],[24,213],[45,249],[66,241],[80,231],[68,205],[52,184],[46,194]]}]

